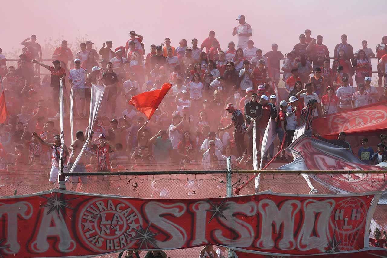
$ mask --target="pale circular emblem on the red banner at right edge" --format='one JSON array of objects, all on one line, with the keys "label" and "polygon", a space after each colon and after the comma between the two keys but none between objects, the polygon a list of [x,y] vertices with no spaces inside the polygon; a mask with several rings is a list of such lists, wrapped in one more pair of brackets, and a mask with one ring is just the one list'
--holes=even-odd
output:
[{"label": "pale circular emblem on the red banner at right edge", "polygon": [[371,127],[387,119],[387,113],[381,110],[353,111],[351,113],[330,116],[329,124],[332,131],[347,132],[360,127]]}]

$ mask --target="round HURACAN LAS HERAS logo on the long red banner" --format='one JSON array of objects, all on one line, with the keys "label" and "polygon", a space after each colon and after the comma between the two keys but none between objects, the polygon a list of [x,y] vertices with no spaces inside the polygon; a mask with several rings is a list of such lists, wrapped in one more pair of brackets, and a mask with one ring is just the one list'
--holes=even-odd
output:
[{"label": "round HURACAN LAS HERAS logo on the long red banner", "polygon": [[93,251],[106,253],[129,249],[136,240],[134,229],[142,225],[140,213],[125,200],[93,198],[81,208],[78,232]]}]

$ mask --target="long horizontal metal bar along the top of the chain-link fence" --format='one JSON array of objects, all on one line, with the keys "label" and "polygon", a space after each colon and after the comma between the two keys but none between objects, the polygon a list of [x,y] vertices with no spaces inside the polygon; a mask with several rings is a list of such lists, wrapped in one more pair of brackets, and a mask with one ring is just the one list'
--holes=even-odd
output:
[{"label": "long horizontal metal bar along the top of the chain-link fence", "polygon": [[[195,175],[195,174],[226,174],[227,170],[198,171],[141,171],[141,172],[86,172],[63,173],[65,176],[96,176],[96,175]],[[233,174],[387,174],[387,170],[231,170]]]}]

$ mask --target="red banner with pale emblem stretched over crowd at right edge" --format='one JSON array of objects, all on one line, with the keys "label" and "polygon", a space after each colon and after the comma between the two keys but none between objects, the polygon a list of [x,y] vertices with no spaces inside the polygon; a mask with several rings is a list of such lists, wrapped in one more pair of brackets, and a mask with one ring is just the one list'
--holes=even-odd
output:
[{"label": "red banner with pale emblem stretched over crowd at right edge", "polygon": [[382,131],[387,128],[387,101],[328,115],[313,121],[321,136]]}]

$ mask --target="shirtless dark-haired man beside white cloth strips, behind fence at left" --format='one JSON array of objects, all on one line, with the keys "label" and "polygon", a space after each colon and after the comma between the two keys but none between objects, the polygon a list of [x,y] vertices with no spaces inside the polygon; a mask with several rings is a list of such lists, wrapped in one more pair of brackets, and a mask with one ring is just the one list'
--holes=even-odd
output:
[{"label": "shirtless dark-haired man beside white cloth strips, behind fence at left", "polygon": [[[75,136],[77,137],[77,139],[75,139],[71,143],[71,145],[68,147],[71,150],[69,163],[67,164],[68,171],[70,171],[72,166],[74,165],[74,162],[77,159],[80,151],[82,150],[82,147],[83,147],[84,141],[85,141],[85,135],[84,135],[83,131],[77,131],[75,133]],[[85,157],[82,155],[82,157],[80,157],[80,159],[79,159],[77,166],[74,169],[74,172],[82,172],[82,173],[85,172],[86,173],[85,161],[86,161]],[[82,181],[82,183],[86,183],[87,176],[86,175],[80,176],[80,180]],[[71,177],[67,176],[66,182],[78,184],[78,177],[77,176],[71,176]],[[67,188],[67,189],[70,189],[70,188]]]}]

